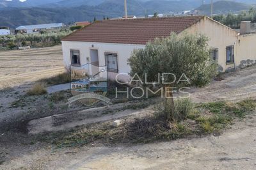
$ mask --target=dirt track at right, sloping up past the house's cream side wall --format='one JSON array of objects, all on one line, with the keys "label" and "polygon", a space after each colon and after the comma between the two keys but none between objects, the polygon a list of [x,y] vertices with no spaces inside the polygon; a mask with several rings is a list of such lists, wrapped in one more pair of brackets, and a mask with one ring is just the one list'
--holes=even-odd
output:
[{"label": "dirt track at right, sloping up past the house's cream side wall", "polygon": [[192,89],[194,102],[244,100],[256,98],[256,66],[226,73],[223,81],[214,81],[202,89]]}]

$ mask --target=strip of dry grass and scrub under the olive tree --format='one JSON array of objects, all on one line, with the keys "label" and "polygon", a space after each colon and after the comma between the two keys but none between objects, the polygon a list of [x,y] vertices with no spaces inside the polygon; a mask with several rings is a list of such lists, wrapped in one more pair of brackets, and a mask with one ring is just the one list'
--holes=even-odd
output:
[{"label": "strip of dry grass and scrub under the olive tree", "polygon": [[245,116],[256,107],[255,100],[244,100],[234,105],[227,102],[198,104],[182,121],[166,121],[156,114],[136,116],[122,120],[122,125],[117,128],[108,121],[70,132],[46,134],[43,141],[56,147],[77,147],[96,143],[149,143],[193,135],[218,135],[229,127],[232,120],[241,118],[236,111],[243,112]]}]

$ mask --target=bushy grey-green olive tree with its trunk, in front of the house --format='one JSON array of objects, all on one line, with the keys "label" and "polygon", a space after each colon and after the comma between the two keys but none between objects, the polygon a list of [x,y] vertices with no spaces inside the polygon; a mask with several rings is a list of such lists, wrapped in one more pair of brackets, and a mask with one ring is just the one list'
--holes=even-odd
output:
[{"label": "bushy grey-green olive tree with its trunk, in front of the house", "polygon": [[[167,120],[175,120],[173,93],[170,88],[173,86],[198,86],[202,87],[209,83],[216,73],[216,65],[211,62],[208,38],[204,35],[176,35],[172,33],[167,38],[156,38],[153,42],[148,42],[145,49],[137,49],[128,59],[131,66],[131,76],[138,75],[147,82],[156,82],[157,75],[163,73],[173,73],[177,80],[184,75],[189,82],[180,84],[160,84],[168,98],[167,106],[170,112],[164,117]],[[161,77],[164,82],[172,82],[173,77]]]}]

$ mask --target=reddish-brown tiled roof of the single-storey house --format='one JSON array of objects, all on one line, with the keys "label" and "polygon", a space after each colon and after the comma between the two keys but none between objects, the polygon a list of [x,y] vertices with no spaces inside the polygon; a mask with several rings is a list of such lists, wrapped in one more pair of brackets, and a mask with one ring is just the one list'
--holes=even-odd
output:
[{"label": "reddish-brown tiled roof of the single-storey house", "polygon": [[94,22],[66,36],[62,41],[145,44],[156,37],[180,33],[202,16],[155,19],[116,19]]}]

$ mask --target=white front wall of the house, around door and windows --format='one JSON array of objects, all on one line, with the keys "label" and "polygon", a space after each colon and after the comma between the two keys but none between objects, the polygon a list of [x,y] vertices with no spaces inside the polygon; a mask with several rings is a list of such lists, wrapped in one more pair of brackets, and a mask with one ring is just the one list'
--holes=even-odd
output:
[{"label": "white front wall of the house, around door and windows", "polygon": [[[62,51],[64,65],[70,66],[70,50],[79,50],[81,65],[90,63],[90,50],[98,50],[99,66],[106,65],[105,52],[112,52],[117,54],[118,73],[129,73],[131,68],[127,64],[127,59],[131,57],[134,49],[143,49],[145,45],[131,45],[119,43],[93,43],[93,42],[62,42]],[[111,78],[115,77],[116,73],[109,72]]]}]

